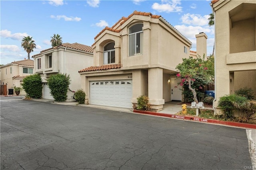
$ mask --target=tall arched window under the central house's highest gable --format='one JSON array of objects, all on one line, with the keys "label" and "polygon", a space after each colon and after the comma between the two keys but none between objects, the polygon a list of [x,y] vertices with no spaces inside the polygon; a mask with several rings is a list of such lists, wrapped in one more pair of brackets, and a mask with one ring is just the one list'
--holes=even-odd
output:
[{"label": "tall arched window under the central house's highest gable", "polygon": [[138,23],[129,29],[129,56],[142,54],[143,24]]}]

